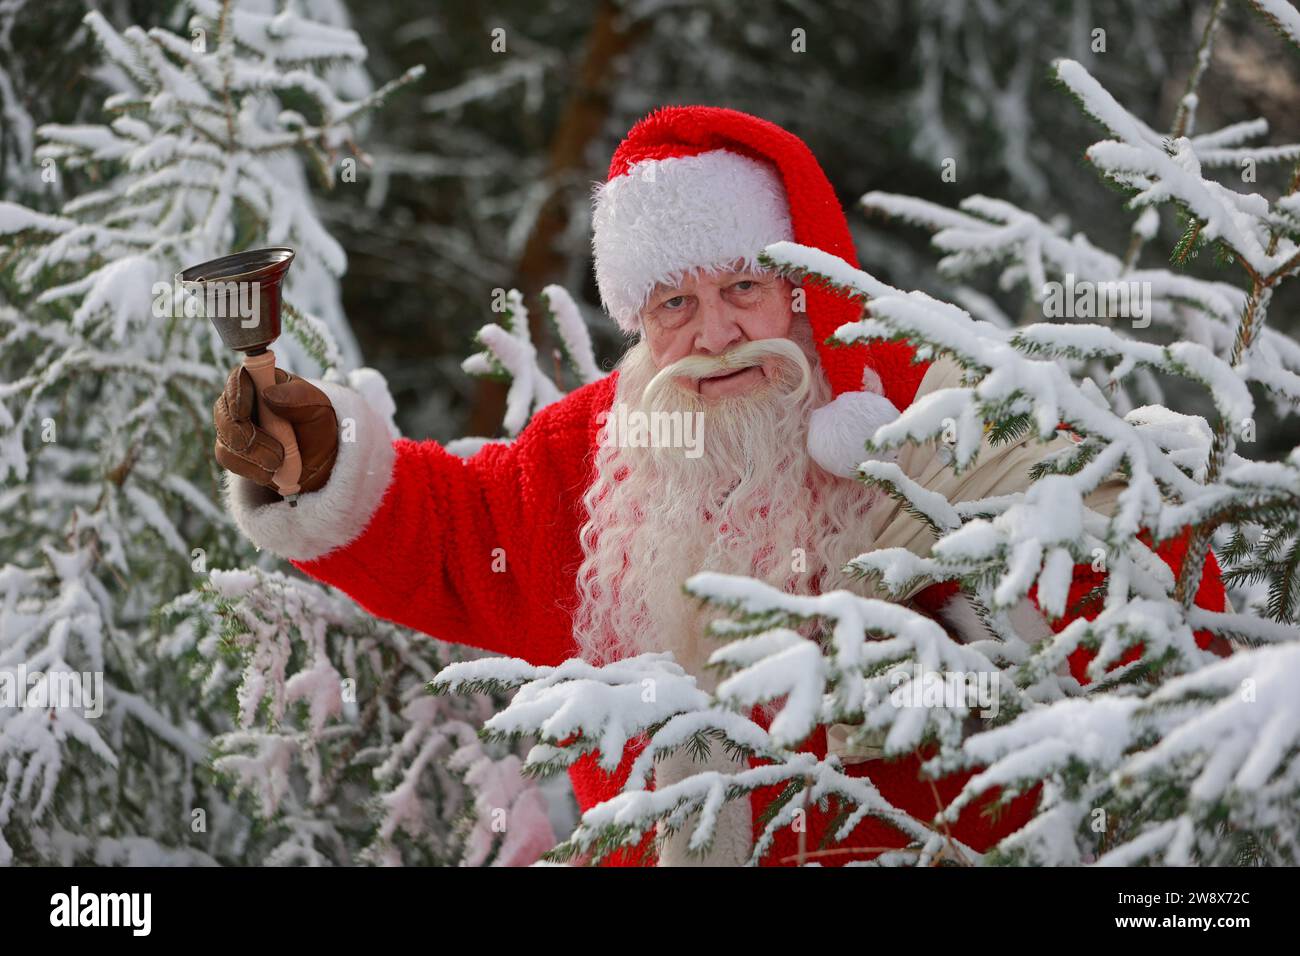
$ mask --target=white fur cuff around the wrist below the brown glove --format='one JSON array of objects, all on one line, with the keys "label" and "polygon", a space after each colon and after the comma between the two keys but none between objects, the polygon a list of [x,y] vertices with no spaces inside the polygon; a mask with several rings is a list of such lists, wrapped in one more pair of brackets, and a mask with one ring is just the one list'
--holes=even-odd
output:
[{"label": "white fur cuff around the wrist below the brown glove", "polygon": [[292,507],[270,489],[226,473],[226,509],[257,548],[290,561],[313,561],[360,536],[393,479],[393,437],[361,395],[312,380],[334,406],[338,457],[325,485],[298,496]]}]

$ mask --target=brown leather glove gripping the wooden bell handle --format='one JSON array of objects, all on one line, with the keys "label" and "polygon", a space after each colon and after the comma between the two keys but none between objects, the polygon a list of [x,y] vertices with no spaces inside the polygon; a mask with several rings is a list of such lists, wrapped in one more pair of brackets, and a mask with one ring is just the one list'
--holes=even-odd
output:
[{"label": "brown leather glove gripping the wooden bell handle", "polygon": [[274,490],[272,476],[285,460],[285,447],[257,427],[260,402],[292,425],[303,459],[299,493],[315,492],[329,480],[338,457],[338,419],[324,392],[282,368],[276,369],[276,384],[261,395],[243,365],[230,372],[212,407],[217,464]]}]

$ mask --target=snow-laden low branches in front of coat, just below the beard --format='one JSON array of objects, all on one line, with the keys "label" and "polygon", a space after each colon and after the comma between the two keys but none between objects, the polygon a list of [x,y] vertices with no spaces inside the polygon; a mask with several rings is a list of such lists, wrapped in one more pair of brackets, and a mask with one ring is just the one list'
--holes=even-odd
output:
[{"label": "snow-laden low branches in front of coat, just below the beard", "polygon": [[[439,693],[517,688],[484,730],[502,739],[537,736],[540,743],[525,762],[530,773],[554,773],[589,753],[599,753],[601,766],[612,771],[624,748],[638,745],[623,792],[588,810],[569,840],[556,848],[556,858],[580,853],[601,858],[638,844],[651,827],[670,834],[692,819],[688,848],[702,853],[712,845],[725,801],[781,783],[802,797],[788,801],[766,823],[750,862],[762,858],[801,808],[831,797],[850,808],[836,827],[837,839],[870,814],[910,836],[923,853],[935,852],[946,838],[892,806],[870,780],[845,774],[838,757],[818,760],[794,748],[826,722],[855,724],[850,741],[883,732],[890,754],[909,753],[932,737],[957,741],[962,722],[972,715],[966,706],[902,706],[900,700],[919,700],[927,675],[961,672],[983,674],[992,683],[992,696],[980,702],[993,711],[1023,706],[1023,701],[1017,704],[1015,688],[998,688],[998,667],[979,650],[956,643],[931,618],[887,601],[849,592],[786,594],[720,574],[696,575],[686,589],[732,611],[732,619],[714,628],[725,643],[710,665],[727,674],[714,695],[702,691],[668,653],[601,667],[580,659],[554,667],[515,659],[462,662],[446,667],[430,684]],[[826,646],[794,630],[809,623],[826,624]],[[774,710],[767,728],[750,717],[762,706]],[[681,748],[706,749],[710,740],[749,758],[750,765],[736,773],[699,771],[646,790],[658,761]],[[753,761],[766,762],[753,766]],[[979,856],[968,847],[956,849]]]}]

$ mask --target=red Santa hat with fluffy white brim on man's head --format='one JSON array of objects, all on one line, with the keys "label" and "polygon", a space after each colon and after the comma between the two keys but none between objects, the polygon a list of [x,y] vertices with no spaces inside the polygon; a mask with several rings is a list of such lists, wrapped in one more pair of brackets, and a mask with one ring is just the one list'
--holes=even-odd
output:
[{"label": "red Santa hat with fluffy white brim on man's head", "polygon": [[[595,189],[592,226],[601,299],[628,333],[658,282],[734,260],[754,265],[774,242],[858,265],[840,200],[803,140],[719,107],[664,107],[637,122],[614,153],[608,181]],[[862,306],[812,284],[805,285],[805,304],[833,394],[854,395],[841,406],[855,403],[855,418],[890,418],[879,403],[866,407],[863,389],[896,408],[910,405],[926,373],[926,364],[913,364],[911,346],[827,345],[840,325],[861,317]],[[861,431],[844,421],[833,428],[848,429],[853,441]]]}]

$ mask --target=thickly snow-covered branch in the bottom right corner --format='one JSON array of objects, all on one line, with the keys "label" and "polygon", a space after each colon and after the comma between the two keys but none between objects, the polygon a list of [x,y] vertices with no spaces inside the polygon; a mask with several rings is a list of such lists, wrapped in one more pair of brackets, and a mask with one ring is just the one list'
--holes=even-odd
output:
[{"label": "thickly snow-covered branch in the bottom right corner", "polygon": [[[1235,865],[1251,840],[1295,861],[1297,666],[1291,635],[1175,676],[1145,697],[1072,700],[976,734],[966,757],[985,769],[945,817],[956,819],[989,786],[1053,777],[1069,784],[1044,790],[1040,813],[1000,848],[1010,858],[1088,858],[1080,834],[1095,829],[1098,808],[1112,806],[1124,812],[1101,818],[1106,851],[1095,858],[1102,865]],[[1167,799],[1183,790],[1186,799]]]}]

